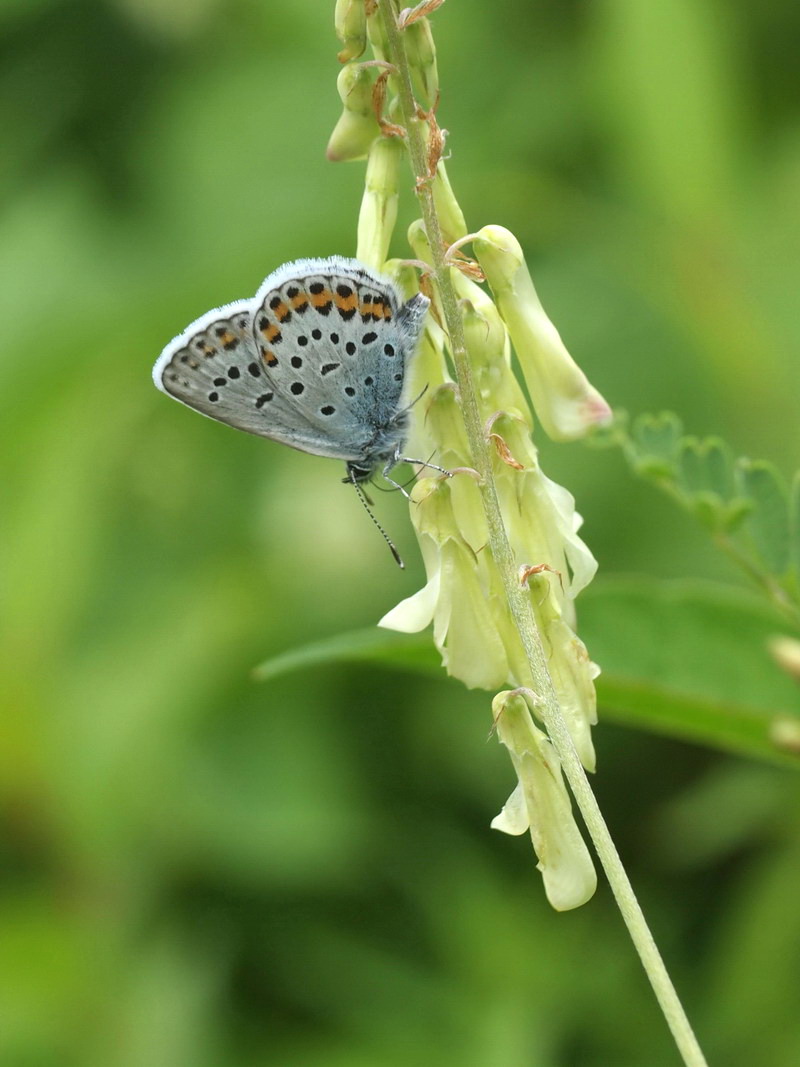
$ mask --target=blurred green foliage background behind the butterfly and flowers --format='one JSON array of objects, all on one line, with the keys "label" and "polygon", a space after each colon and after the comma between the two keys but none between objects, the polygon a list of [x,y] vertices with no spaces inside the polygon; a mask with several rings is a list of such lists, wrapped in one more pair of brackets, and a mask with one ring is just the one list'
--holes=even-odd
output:
[{"label": "blurred green foliage background behind the butterfly and flowers", "polygon": [[[319,0],[0,5],[0,1063],[674,1064],[605,885],[555,914],[529,842],[490,831],[512,771],[487,694],[250,680],[418,588],[403,501],[378,498],[400,572],[336,464],[150,382],[208,307],[353,254],[332,23]],[[467,221],[517,235],[591,380],[788,475],[800,7],[451,0],[434,32]],[[414,217],[406,190],[394,254]],[[617,453],[540,444],[598,585],[739,582]],[[711,1061],[800,1063],[797,775],[595,736]]]}]

